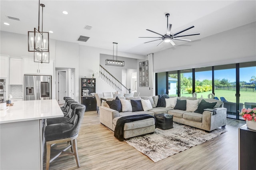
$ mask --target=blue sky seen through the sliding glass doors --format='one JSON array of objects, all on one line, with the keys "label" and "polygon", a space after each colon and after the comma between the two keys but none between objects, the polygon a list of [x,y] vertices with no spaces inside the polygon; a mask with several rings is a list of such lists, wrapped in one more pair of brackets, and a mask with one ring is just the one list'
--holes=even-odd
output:
[{"label": "blue sky seen through the sliding glass doors", "polygon": [[[196,80],[212,79],[212,71],[196,72]],[[192,73],[184,73],[185,77],[192,77]],[[256,67],[240,68],[240,81],[250,82],[252,76],[256,76]],[[222,69],[214,71],[214,79],[228,79],[230,83],[236,81],[236,69]]]}]

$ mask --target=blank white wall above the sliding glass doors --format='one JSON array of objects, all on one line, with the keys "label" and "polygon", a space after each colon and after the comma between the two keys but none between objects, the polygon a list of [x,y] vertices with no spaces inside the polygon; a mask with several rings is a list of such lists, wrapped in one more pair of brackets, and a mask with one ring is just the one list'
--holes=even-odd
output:
[{"label": "blank white wall above the sliding glass doors", "polygon": [[154,72],[256,61],[256,22],[154,53]]}]

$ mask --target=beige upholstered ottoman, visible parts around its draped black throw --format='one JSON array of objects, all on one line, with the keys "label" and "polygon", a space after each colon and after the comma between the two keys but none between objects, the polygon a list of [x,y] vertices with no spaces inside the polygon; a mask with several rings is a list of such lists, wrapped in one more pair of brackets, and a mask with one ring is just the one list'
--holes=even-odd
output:
[{"label": "beige upholstered ottoman, visible parts around its draped black throw", "polygon": [[[116,127],[116,122],[120,117],[113,119],[113,129]],[[133,121],[124,124],[124,140],[129,140],[131,137],[142,134],[153,134],[155,132],[155,119],[148,118],[140,121]]]}]

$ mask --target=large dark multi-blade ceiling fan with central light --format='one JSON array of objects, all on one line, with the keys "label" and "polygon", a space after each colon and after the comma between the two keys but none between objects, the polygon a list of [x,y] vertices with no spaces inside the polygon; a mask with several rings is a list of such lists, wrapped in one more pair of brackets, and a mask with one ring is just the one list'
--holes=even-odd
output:
[{"label": "large dark multi-blade ceiling fan with central light", "polygon": [[[159,46],[160,44],[162,44],[163,42],[170,42],[172,45],[175,45],[175,43],[172,41],[172,40],[180,40],[180,41],[186,41],[186,42],[190,42],[191,40],[188,40],[188,39],[182,39],[182,38],[178,38],[178,37],[185,37],[185,36],[195,36],[195,35],[200,35],[200,32],[198,33],[193,33],[193,34],[183,34],[183,35],[178,35],[184,31],[187,31],[191,28],[194,28],[194,26],[189,26],[188,28],[185,28],[183,30],[180,30],[174,34],[171,34],[171,28],[172,28],[172,24],[168,24],[168,17],[170,16],[170,14],[165,14],[165,17],[167,17],[167,32],[166,34],[162,35],[162,34],[159,34],[157,32],[154,32],[154,31],[151,31],[151,30],[148,30],[146,29],[147,31],[150,31],[150,32],[153,32],[155,34],[158,34],[160,35],[161,37],[139,37],[139,38],[160,38],[158,40],[162,40],[162,42],[160,42],[158,45],[156,46]],[[158,40],[153,40],[153,41],[150,41],[150,42],[154,42],[154,41],[158,41]],[[149,43],[149,42],[145,42],[145,43]]]}]

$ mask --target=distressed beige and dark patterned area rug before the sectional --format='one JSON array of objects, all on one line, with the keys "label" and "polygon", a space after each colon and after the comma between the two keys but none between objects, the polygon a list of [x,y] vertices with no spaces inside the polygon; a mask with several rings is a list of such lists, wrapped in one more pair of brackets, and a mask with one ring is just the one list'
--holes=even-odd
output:
[{"label": "distressed beige and dark patterned area rug before the sectional", "polygon": [[154,162],[158,162],[224,132],[226,130],[217,128],[208,133],[198,128],[174,122],[173,128],[167,130],[156,128],[154,134],[144,134],[125,141]]}]

